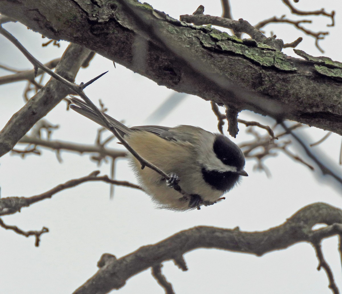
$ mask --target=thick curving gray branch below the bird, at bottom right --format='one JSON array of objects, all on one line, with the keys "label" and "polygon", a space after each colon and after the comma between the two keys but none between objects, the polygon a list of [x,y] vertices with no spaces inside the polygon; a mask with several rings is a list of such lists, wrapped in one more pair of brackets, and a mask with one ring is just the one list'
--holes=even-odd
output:
[{"label": "thick curving gray branch below the bird, at bottom right", "polygon": [[[317,223],[327,226],[312,230]],[[133,275],[167,260],[179,260],[180,256],[197,248],[216,248],[262,256],[299,242],[317,244],[323,238],[341,234],[341,224],[341,209],[325,203],[315,203],[302,208],[285,223],[267,231],[242,232],[238,228],[231,230],[197,226],[154,245],[140,247],[119,259],[111,259],[74,294],[105,294],[113,289],[120,289]]]}]

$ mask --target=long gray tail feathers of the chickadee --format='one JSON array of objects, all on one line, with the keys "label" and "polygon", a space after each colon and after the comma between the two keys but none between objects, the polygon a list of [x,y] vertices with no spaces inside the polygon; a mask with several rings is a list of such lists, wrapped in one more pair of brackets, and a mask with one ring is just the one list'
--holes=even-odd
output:
[{"label": "long gray tail feathers of the chickadee", "polygon": [[[98,115],[86,103],[84,103],[82,100],[80,100],[80,99],[78,99],[76,97],[73,97],[70,100],[71,100],[72,103],[75,104],[75,105],[70,105],[70,108],[72,110],[75,110],[79,114],[84,115],[86,118],[89,118],[92,121],[96,122],[97,124],[107,128],[103,124],[102,118],[98,117]],[[113,119],[108,114],[104,113],[104,115],[107,118],[107,120],[119,131],[119,133],[121,135],[125,135],[125,134],[128,134],[128,133],[132,132],[132,130],[129,127],[127,127],[124,124],[120,123],[116,119]]]}]

